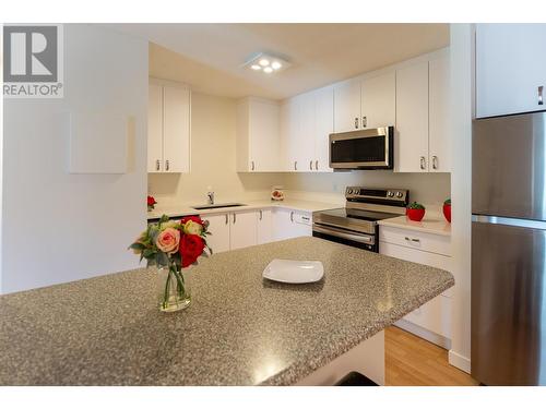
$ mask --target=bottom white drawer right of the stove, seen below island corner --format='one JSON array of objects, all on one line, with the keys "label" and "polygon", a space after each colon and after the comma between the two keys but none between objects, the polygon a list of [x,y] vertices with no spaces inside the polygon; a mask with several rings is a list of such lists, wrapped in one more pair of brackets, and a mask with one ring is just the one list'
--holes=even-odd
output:
[{"label": "bottom white drawer right of the stove, seen below island corner", "polygon": [[451,339],[451,299],[440,294],[412,311],[404,320]]}]

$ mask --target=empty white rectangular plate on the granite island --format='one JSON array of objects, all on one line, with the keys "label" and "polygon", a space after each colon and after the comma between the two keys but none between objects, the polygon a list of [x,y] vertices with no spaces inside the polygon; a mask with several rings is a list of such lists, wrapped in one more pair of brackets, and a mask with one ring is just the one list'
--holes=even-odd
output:
[{"label": "empty white rectangular plate on the granite island", "polygon": [[324,276],[324,266],[321,262],[274,258],[268,264],[262,276],[281,282],[316,282]]}]

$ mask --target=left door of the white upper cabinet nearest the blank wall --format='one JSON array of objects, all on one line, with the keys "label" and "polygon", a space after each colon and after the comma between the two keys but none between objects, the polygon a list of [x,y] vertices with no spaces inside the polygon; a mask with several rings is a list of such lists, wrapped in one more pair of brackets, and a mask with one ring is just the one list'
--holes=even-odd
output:
[{"label": "left door of the white upper cabinet nearest the blank wall", "polygon": [[163,87],[150,84],[147,91],[147,171],[163,171]]}]

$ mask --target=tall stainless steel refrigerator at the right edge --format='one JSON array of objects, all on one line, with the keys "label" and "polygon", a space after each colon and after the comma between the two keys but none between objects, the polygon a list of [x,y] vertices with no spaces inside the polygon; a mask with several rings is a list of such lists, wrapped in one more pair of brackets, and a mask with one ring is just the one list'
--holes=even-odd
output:
[{"label": "tall stainless steel refrigerator at the right edge", "polygon": [[546,112],[475,120],[472,149],[472,375],[546,385]]}]

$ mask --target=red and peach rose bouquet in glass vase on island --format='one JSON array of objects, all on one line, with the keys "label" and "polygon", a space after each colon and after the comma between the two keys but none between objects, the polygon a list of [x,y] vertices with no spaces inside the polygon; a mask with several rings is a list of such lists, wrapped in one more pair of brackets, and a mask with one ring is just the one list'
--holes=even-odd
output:
[{"label": "red and peach rose bouquet in glass vase on island", "polygon": [[159,275],[166,276],[161,286],[161,311],[178,311],[190,304],[190,291],[182,269],[197,264],[201,255],[207,256],[206,251],[212,254],[206,245],[206,236],[211,234],[207,228],[209,221],[199,216],[188,216],[178,221],[163,215],[129,246],[140,254],[141,262],[146,260],[146,267],[155,265]]}]

